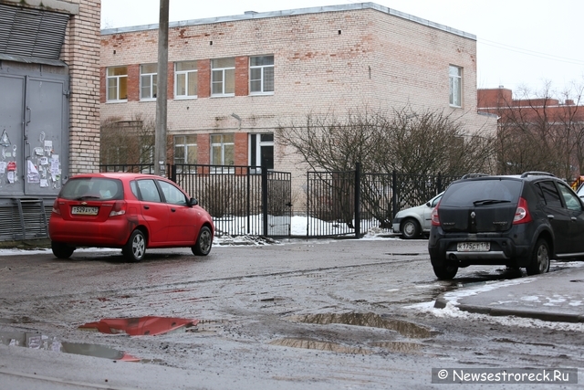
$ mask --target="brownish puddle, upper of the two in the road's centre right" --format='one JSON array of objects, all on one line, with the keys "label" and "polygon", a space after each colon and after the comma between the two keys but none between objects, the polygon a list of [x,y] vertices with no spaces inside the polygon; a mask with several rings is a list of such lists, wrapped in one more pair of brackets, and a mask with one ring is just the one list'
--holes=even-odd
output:
[{"label": "brownish puddle, upper of the two in the road's centre right", "polygon": [[389,329],[399,332],[402,336],[417,339],[425,339],[432,336],[432,332],[423,326],[401,320],[381,318],[375,313],[326,313],[297,315],[290,318],[292,321],[305,323],[318,323],[327,325],[329,323],[342,323],[345,325],[367,326],[371,328]]}]

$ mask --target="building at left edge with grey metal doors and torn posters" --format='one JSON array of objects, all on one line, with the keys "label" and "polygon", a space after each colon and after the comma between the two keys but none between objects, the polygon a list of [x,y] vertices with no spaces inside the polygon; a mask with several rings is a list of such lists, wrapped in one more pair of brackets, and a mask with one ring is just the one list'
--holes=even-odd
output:
[{"label": "building at left edge with grey metal doors and torn posters", "polygon": [[100,8],[0,0],[0,239],[46,235],[61,184],[98,169]]}]

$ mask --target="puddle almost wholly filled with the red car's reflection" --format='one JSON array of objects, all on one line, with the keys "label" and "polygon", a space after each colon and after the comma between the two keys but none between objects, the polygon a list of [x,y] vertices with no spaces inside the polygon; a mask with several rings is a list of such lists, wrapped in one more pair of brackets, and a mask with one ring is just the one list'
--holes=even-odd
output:
[{"label": "puddle almost wholly filled with the red car's reflection", "polygon": [[79,326],[84,331],[130,336],[155,336],[169,332],[189,332],[199,320],[172,317],[107,318]]}]

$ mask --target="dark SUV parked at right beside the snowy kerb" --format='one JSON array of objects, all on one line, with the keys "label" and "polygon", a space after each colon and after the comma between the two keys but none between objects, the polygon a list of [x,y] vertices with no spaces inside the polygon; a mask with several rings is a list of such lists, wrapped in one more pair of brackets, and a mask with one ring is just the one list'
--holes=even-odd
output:
[{"label": "dark SUV parked at right beside the snowy kerb", "polygon": [[438,279],[470,265],[544,273],[550,258],[584,256],[584,203],[553,174],[466,175],[434,208],[428,251]]}]

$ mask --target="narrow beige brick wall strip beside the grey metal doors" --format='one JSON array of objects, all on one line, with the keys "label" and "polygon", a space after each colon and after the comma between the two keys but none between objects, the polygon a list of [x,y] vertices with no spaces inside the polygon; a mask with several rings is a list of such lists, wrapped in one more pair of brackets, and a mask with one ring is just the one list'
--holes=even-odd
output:
[{"label": "narrow beige brick wall strip beside the grey metal doors", "polygon": [[101,0],[71,0],[61,59],[68,64],[69,174],[99,171],[99,40]]}]

